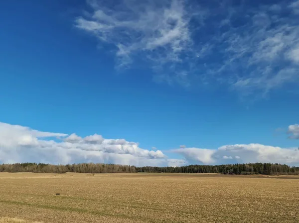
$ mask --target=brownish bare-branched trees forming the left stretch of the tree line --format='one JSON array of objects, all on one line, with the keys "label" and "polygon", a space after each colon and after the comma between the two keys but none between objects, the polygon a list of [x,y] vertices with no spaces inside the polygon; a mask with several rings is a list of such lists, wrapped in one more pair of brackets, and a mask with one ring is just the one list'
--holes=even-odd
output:
[{"label": "brownish bare-branched trees forming the left stretch of the tree line", "polygon": [[103,163],[79,163],[67,165],[52,165],[44,163],[14,163],[0,165],[0,172],[34,172],[34,173],[133,173],[135,166],[103,164]]}]

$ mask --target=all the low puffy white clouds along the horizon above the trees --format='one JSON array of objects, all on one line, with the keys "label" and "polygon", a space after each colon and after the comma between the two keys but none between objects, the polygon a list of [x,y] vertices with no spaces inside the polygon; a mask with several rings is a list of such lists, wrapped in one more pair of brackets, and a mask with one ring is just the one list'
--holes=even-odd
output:
[{"label": "all the low puffy white clouds along the horizon above the trees", "polygon": [[[299,139],[299,125],[290,125],[291,138]],[[0,163],[43,162],[53,164],[95,162],[135,166],[181,166],[188,164],[225,164],[272,162],[299,165],[297,148],[260,144],[226,145],[218,149],[180,146],[167,157],[161,150],[142,149],[125,139],[105,139],[101,135],[80,137],[76,134],[41,132],[28,127],[0,122]]]}]

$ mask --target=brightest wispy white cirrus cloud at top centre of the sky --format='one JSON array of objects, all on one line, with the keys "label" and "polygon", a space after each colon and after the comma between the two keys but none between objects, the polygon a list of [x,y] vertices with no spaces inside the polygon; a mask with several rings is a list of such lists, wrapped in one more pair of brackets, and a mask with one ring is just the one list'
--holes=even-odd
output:
[{"label": "brightest wispy white cirrus cloud at top centre of the sky", "polygon": [[129,67],[142,53],[159,66],[182,61],[181,54],[192,45],[189,21],[192,15],[183,1],[103,1],[89,0],[88,16],[78,17],[76,27],[93,33],[116,48],[119,69]]}]

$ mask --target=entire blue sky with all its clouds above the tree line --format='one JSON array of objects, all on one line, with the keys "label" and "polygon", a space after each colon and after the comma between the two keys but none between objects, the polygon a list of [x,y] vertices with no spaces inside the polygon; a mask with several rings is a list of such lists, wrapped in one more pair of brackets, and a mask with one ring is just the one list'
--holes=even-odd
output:
[{"label": "entire blue sky with all its clouds above the tree line", "polygon": [[299,166],[299,0],[9,0],[0,20],[0,163]]}]

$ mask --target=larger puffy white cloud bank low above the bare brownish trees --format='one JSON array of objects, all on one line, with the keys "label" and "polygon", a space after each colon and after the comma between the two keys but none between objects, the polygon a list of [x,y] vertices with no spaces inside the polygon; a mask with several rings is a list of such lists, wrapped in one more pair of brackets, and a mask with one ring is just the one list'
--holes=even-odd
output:
[{"label": "larger puffy white cloud bank low above the bare brownish trees", "polygon": [[162,151],[142,149],[138,143],[124,139],[104,139],[97,134],[82,138],[0,122],[0,163],[6,162],[168,164]]}]

